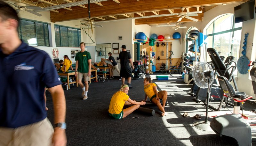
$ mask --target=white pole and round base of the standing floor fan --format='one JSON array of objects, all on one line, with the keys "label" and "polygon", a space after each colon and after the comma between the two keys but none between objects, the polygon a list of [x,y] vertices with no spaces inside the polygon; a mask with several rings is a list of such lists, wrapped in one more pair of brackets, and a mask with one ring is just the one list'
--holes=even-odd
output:
[{"label": "white pole and round base of the standing floor fan", "polygon": [[195,121],[193,122],[193,126],[197,129],[204,130],[204,131],[213,131],[210,127],[210,122],[208,122],[208,106],[209,106],[209,99],[210,99],[210,78],[208,80],[208,90],[207,90],[207,97],[206,97],[206,113],[205,113],[205,120],[204,121]]}]

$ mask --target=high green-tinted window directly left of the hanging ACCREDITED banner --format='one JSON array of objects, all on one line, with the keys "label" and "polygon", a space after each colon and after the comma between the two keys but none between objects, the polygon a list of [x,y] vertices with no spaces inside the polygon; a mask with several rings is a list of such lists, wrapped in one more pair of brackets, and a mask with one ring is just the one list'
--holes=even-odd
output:
[{"label": "high green-tinted window directly left of the hanging ACCREDITED banner", "polygon": [[56,47],[79,47],[81,30],[63,26],[54,26]]}]

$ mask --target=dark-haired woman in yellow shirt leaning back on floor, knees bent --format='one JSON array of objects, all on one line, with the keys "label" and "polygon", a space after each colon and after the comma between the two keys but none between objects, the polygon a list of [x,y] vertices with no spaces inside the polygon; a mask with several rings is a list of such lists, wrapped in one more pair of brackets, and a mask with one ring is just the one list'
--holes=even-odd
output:
[{"label": "dark-haired woman in yellow shirt leaning back on floor, knees bent", "polygon": [[[145,101],[149,97],[150,102],[153,102],[156,106],[158,106],[162,112],[162,116],[167,115],[167,113],[164,111],[164,106],[167,99],[167,91],[157,91],[157,86],[155,83],[152,83],[150,77],[145,77],[144,79],[144,91],[146,93]],[[163,105],[161,105],[160,99],[163,100]]]}]

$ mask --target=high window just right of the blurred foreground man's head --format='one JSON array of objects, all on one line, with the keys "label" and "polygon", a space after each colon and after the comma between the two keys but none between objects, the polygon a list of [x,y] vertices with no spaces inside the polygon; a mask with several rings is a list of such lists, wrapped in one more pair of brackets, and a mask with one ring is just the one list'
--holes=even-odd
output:
[{"label": "high window just right of the blurred foreground man's head", "polygon": [[50,46],[48,24],[20,20],[19,38],[30,46]]}]

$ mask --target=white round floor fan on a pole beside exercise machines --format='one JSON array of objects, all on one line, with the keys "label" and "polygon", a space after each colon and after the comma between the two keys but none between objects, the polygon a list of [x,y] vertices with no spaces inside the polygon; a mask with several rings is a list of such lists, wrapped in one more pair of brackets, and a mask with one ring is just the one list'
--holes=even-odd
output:
[{"label": "white round floor fan on a pole beside exercise machines", "polygon": [[210,127],[210,122],[208,122],[208,106],[210,99],[210,85],[213,82],[213,70],[210,64],[206,62],[198,62],[193,70],[193,79],[195,84],[200,88],[208,88],[207,96],[206,96],[206,113],[204,121],[195,121],[193,122],[193,126],[197,129],[204,131],[212,131]]}]

